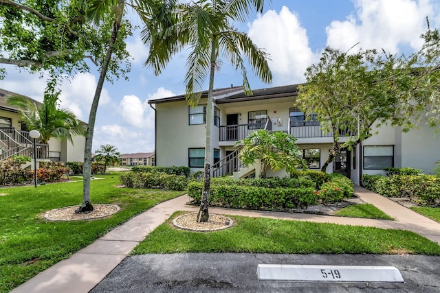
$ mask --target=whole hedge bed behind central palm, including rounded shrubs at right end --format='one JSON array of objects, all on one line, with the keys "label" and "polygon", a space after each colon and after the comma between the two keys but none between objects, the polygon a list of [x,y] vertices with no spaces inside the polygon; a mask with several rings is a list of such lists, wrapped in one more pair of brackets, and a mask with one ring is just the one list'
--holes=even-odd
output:
[{"label": "whole hedge bed behind central palm, including rounded shrubs at right end", "polygon": [[[339,202],[353,196],[353,183],[341,174],[311,171],[297,178],[234,179],[212,178],[210,204],[236,209],[294,209],[318,201]],[[321,174],[322,173],[322,174]],[[316,181],[309,179],[313,177]],[[324,179],[327,179],[324,181]],[[316,190],[316,183],[321,183]],[[188,196],[200,202],[203,183],[189,183]]]}]

